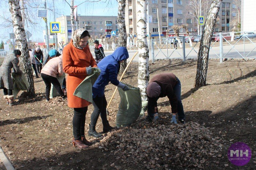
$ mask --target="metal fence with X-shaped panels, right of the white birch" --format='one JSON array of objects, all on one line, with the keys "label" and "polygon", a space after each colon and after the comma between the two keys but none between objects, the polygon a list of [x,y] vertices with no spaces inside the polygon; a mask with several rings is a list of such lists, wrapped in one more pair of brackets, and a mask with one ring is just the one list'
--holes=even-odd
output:
[{"label": "metal fence with X-shaped panels, right of the white birch", "polygon": [[[193,40],[193,37],[192,37]],[[209,58],[256,58],[256,31],[230,32],[213,34],[211,39]],[[183,43],[185,42],[185,43]],[[187,37],[179,37],[177,48],[174,48],[173,38],[152,39],[152,62],[156,59],[197,58],[200,41],[188,43]]]}]

